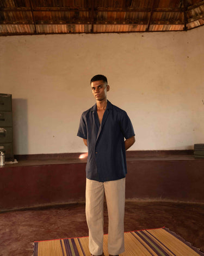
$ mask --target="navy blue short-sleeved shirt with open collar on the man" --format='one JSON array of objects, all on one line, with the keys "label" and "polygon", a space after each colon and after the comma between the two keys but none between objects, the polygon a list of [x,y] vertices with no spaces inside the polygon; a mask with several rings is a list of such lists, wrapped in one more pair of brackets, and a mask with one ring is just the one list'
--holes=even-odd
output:
[{"label": "navy blue short-sleeved shirt with open collar on the man", "polygon": [[124,178],[127,173],[124,137],[134,135],[127,113],[109,101],[101,125],[96,104],[83,112],[77,136],[87,139],[86,178],[100,182]]}]

